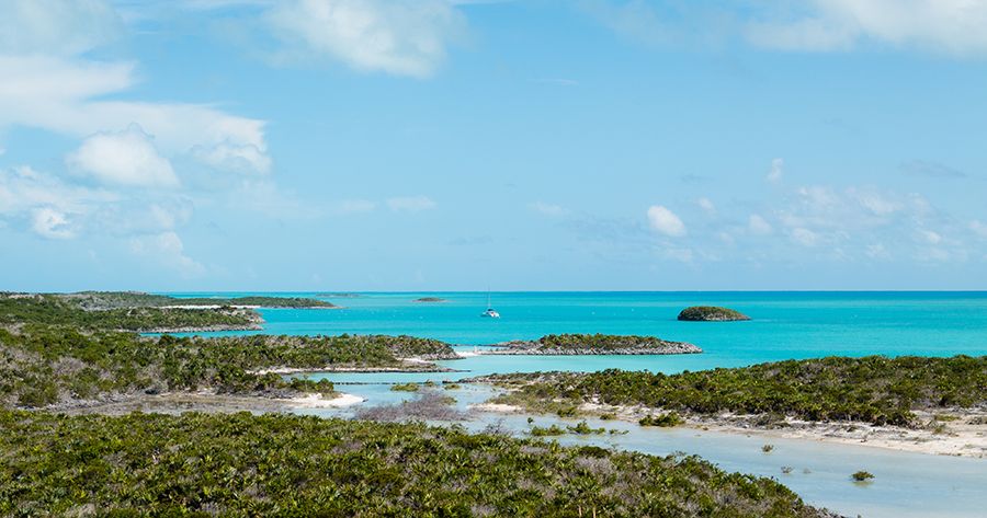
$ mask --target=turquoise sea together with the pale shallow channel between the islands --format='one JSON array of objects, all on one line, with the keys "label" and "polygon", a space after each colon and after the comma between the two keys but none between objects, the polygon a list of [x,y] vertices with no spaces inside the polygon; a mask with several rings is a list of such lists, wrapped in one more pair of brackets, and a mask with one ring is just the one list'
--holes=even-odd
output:
[{"label": "turquoise sea together with the pale shallow channel between the islands", "polygon": [[[171,293],[202,296],[203,293]],[[213,293],[205,293],[213,295]],[[223,296],[257,293],[223,293]],[[264,293],[308,297],[317,293]],[[415,303],[438,296],[443,303]],[[460,379],[491,372],[537,370],[594,371],[605,368],[678,372],[736,367],[762,361],[829,355],[887,356],[987,354],[985,292],[717,292],[717,293],[494,293],[500,320],[480,319],[486,293],[365,293],[359,298],[321,298],[344,310],[262,310],[270,334],[410,334],[473,345],[536,338],[549,333],[656,335],[691,342],[701,355],[681,356],[478,356],[441,364],[466,370],[453,373],[316,375],[339,389],[366,398],[364,405],[393,403],[410,394],[392,392],[389,382]],[[750,322],[678,322],[679,310],[692,304],[726,306],[750,315]],[[213,333],[247,334],[247,333]],[[484,387],[450,392],[460,405],[489,396]],[[353,410],[310,410],[318,415],[352,415]],[[467,422],[483,429],[494,422],[517,434],[529,425],[524,416],[484,414]],[[537,424],[559,421],[538,417]],[[575,422],[568,422],[575,424]],[[847,516],[983,517],[987,509],[987,461],[799,439],[770,439],[774,450],[761,451],[763,437],[653,429],[636,424],[593,422],[622,428],[624,436],[579,438],[563,442],[599,444],[656,454],[699,454],[728,471],[774,476],[806,502]],[[782,474],[781,467],[793,468]],[[809,473],[803,470],[808,469]],[[876,475],[859,485],[849,474],[864,469]]]}]

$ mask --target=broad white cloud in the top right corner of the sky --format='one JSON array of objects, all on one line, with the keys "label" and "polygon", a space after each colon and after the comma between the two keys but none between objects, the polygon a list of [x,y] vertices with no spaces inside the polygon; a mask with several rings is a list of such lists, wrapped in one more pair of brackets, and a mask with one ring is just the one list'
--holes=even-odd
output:
[{"label": "broad white cloud in the top right corner of the sky", "polygon": [[841,50],[876,41],[956,55],[987,53],[987,2],[979,0],[814,0],[762,16],[747,35],[765,47]]}]

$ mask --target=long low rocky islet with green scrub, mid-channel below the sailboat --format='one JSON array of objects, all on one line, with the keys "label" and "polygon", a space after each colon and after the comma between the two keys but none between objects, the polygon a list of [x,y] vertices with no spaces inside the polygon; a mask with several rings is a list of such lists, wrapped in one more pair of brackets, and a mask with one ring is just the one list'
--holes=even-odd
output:
[{"label": "long low rocky islet with green scrub, mid-channel below the sailboat", "polygon": [[606,334],[551,334],[536,341],[497,344],[491,355],[687,355],[703,349],[685,342],[655,336]]}]

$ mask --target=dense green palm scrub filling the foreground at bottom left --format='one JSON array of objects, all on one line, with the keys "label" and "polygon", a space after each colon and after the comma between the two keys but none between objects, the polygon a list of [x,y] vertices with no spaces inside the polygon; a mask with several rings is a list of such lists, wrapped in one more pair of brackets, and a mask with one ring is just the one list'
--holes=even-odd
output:
[{"label": "dense green palm scrub filling the foreground at bottom left", "polygon": [[833,517],[695,457],[420,424],[0,411],[0,515]]}]

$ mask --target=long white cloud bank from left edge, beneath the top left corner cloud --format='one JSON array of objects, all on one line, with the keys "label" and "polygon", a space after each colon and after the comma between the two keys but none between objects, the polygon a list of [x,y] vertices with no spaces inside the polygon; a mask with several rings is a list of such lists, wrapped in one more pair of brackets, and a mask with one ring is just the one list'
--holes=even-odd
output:
[{"label": "long white cloud bank from left edge, beneath the top left corner cloud", "polygon": [[136,83],[134,69],[131,62],[0,55],[0,130],[20,125],[82,138],[138,124],[166,156],[188,153],[236,172],[270,169],[262,120],[195,104],[106,100]]}]

